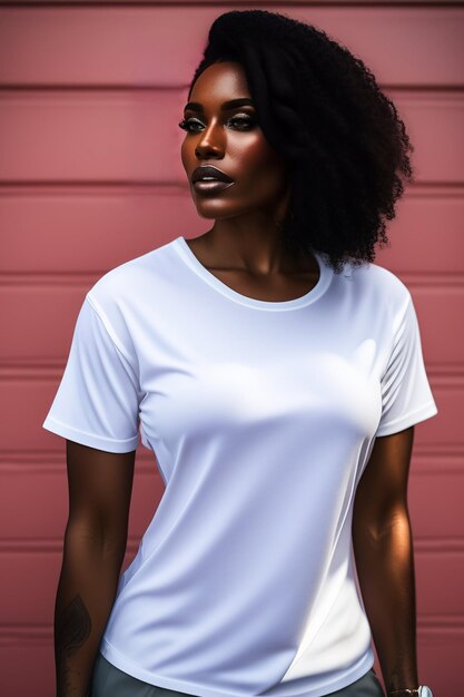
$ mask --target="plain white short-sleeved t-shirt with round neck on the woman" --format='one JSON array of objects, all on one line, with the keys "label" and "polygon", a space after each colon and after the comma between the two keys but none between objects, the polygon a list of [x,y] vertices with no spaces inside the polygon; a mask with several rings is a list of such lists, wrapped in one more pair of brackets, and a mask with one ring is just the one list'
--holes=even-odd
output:
[{"label": "plain white short-sleeved t-shirt with round neck on the woman", "polygon": [[375,436],[437,413],[409,291],[345,264],[284,302],[216,278],[184,237],[105,274],[43,428],[142,444],[166,489],[100,644],[201,697],[318,697],[374,664],[352,514]]}]

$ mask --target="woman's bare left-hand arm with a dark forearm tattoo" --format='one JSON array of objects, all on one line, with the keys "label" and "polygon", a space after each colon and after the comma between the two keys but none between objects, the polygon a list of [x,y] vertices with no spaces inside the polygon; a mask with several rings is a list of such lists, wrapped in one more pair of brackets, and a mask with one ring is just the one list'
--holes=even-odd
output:
[{"label": "woman's bare left-hand arm with a dark forearm tattoo", "polygon": [[67,440],[69,518],[55,606],[57,697],[87,697],[126,552],[136,451]]}]

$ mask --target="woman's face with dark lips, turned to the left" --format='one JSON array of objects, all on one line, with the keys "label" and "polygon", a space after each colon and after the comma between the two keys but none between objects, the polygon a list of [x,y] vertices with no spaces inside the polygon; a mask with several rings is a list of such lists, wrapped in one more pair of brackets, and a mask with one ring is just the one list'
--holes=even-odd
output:
[{"label": "woman's face with dark lips, turned to the left", "polygon": [[[246,99],[247,104],[225,102]],[[245,71],[235,61],[216,62],[197,79],[184,110],[187,132],[181,160],[198,214],[229,218],[256,212],[283,217],[288,203],[287,167],[257,124]],[[220,190],[200,190],[191,175],[213,165],[234,179]],[[206,187],[205,187],[206,188]]]}]

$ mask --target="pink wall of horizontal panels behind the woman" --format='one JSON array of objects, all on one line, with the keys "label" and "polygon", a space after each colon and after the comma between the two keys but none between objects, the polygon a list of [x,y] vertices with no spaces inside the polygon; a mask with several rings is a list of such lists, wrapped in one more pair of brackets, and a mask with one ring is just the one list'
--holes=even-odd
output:
[{"label": "pink wall of horizontal panels behind the woman", "polygon": [[[185,180],[177,122],[207,29],[230,7],[1,4],[0,695],[50,697],[68,494],[65,441],[41,424],[90,285],[179,234],[207,229]],[[440,410],[416,428],[409,483],[419,676],[438,697],[458,697],[464,10],[451,2],[310,6],[253,3],[319,26],[366,60],[415,145],[417,183],[399,204],[392,248],[377,263],[413,294]],[[161,492],[140,448],[125,567]]]}]

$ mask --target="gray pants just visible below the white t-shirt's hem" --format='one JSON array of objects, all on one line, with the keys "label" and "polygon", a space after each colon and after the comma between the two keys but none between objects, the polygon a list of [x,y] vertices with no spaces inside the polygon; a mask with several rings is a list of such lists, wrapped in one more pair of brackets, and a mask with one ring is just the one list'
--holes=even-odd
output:
[{"label": "gray pants just visible below the white t-shirt's hem", "polygon": [[[134,678],[116,668],[100,651],[97,654],[89,697],[184,697],[184,695],[187,693],[157,687]],[[371,668],[358,680],[330,693],[327,697],[384,697],[384,691],[377,676]]]}]

